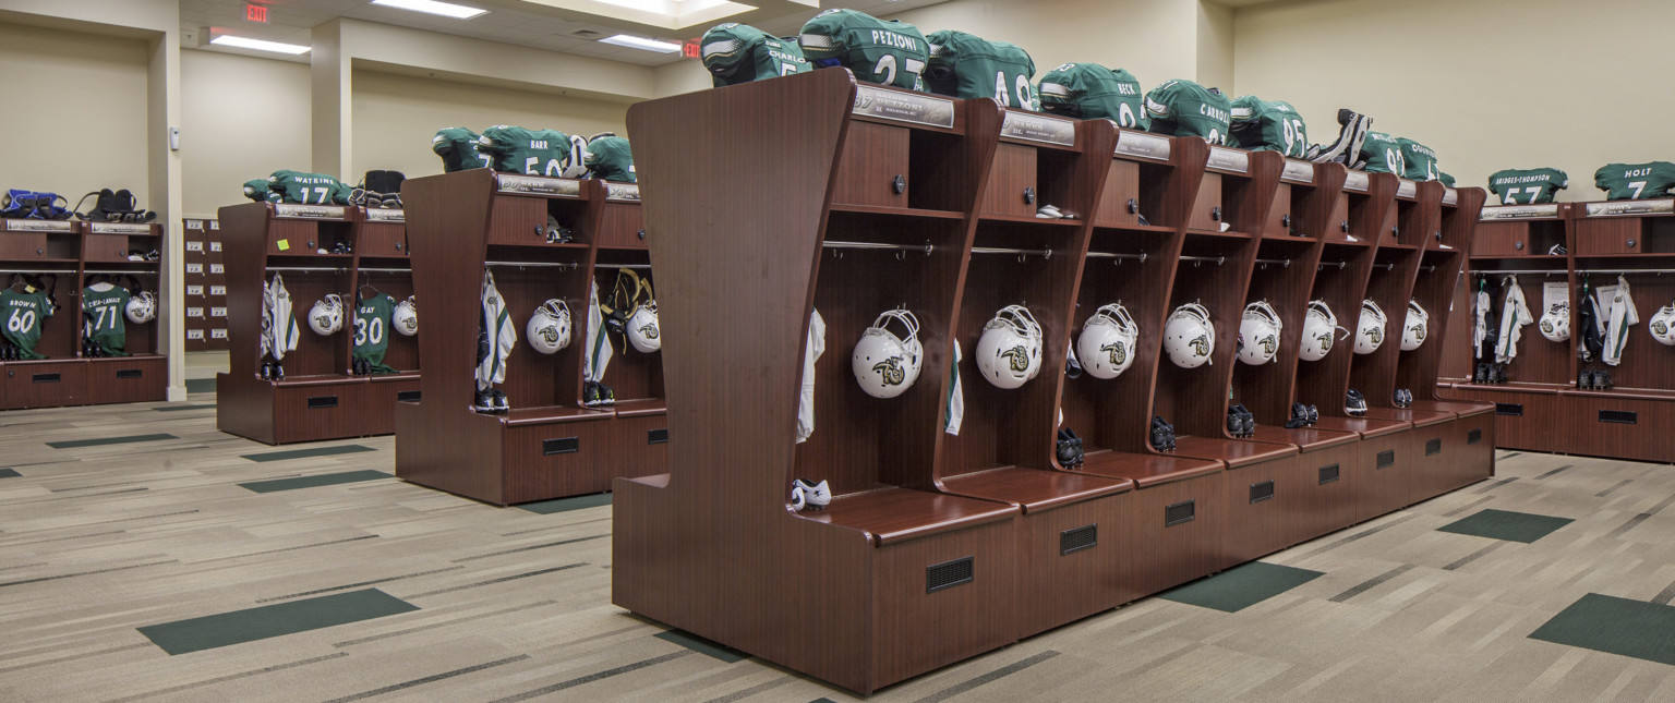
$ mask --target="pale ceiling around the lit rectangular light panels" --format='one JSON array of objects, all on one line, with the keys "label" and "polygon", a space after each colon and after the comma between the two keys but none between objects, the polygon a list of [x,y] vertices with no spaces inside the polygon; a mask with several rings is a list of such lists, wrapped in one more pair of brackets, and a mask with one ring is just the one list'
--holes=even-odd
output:
[{"label": "pale ceiling around the lit rectangular light panels", "polygon": [[[687,37],[672,37],[667,35],[667,32],[658,33],[655,30],[645,30],[642,28],[643,25],[633,25],[631,22],[613,17],[593,17],[578,12],[553,10],[544,5],[521,0],[456,2],[461,5],[486,7],[489,8],[489,13],[477,15],[471,20],[452,20],[447,17],[379,7],[372,5],[368,0],[260,0],[261,5],[268,7],[268,23],[263,25],[245,20],[245,5],[248,5],[246,0],[181,0],[181,32],[184,37],[183,44],[193,47],[201,44],[198,33],[204,27],[211,27],[214,33],[233,33],[251,38],[265,38],[270,42],[308,45],[310,28],[337,17],[350,17],[355,20],[442,32],[489,42],[516,44],[523,47],[610,59],[638,65],[665,65],[683,59],[680,54],[655,54],[640,49],[615,47],[595,40],[576,38],[575,32],[593,30],[600,32],[603,37],[628,32],[673,42],[698,38],[698,35],[704,33],[702,28],[697,28]],[[940,2],[946,0],[846,0],[829,2],[827,5],[848,7],[851,10],[869,12],[874,15],[891,15],[915,7],[936,5]],[[769,7],[770,3],[764,2],[762,5]],[[809,17],[814,17],[814,13],[819,12],[816,8],[797,8],[794,3],[772,3],[772,7],[786,8],[787,13],[765,20],[755,18],[750,23],[764,32],[777,35],[796,33]],[[208,40],[208,37],[204,37],[204,40]],[[224,47],[204,45],[203,49],[261,55],[266,59],[280,57],[278,54],[261,54]],[[303,55],[295,60],[307,62],[308,59]]]}]

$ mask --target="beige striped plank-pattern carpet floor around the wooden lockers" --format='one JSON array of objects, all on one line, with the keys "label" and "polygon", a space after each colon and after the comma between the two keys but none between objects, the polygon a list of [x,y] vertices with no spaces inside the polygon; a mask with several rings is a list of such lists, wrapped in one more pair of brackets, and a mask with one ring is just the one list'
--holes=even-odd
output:
[{"label": "beige striped plank-pattern carpet floor around the wooden lockers", "polygon": [[[0,413],[0,700],[854,700],[611,606],[608,495],[496,509],[395,479],[390,437],[265,447],[213,402]],[[1670,505],[1667,465],[1501,452],[873,700],[1675,700]]]}]

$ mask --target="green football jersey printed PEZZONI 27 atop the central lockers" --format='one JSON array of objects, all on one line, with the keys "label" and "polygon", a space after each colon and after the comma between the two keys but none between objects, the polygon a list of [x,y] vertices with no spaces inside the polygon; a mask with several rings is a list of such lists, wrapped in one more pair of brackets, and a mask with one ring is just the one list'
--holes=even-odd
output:
[{"label": "green football jersey printed PEZZONI 27 atop the central lockers", "polygon": [[920,74],[931,59],[920,30],[901,20],[879,20],[856,10],[814,15],[797,35],[814,67],[841,65],[858,80],[925,90]]}]

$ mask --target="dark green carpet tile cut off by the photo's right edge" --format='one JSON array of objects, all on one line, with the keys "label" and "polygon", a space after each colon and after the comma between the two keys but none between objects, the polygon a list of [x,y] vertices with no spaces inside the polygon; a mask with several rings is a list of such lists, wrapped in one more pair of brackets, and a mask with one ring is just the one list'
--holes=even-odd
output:
[{"label": "dark green carpet tile cut off by the photo's right edge", "polygon": [[1675,606],[1590,593],[1529,638],[1675,665]]}]

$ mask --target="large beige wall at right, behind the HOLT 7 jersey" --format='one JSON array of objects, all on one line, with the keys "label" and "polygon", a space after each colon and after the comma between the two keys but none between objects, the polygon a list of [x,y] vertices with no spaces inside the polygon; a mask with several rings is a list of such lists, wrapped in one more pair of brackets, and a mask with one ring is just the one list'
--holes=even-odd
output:
[{"label": "large beige wall at right, behind the HOLT 7 jersey", "polygon": [[[1553,166],[1571,176],[1561,199],[1600,199],[1600,166],[1675,161],[1665,137],[1675,92],[1657,84],[1672,17],[1663,0],[1251,7],[1234,15],[1236,82],[1295,104],[1315,141],[1335,136],[1338,107],[1353,107],[1374,129],[1434,147],[1462,186]],[[1382,50],[1350,54],[1330,37]]]}]

